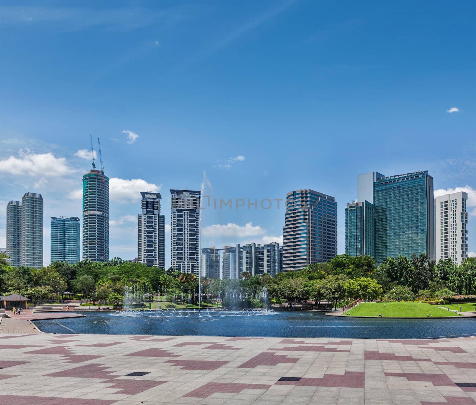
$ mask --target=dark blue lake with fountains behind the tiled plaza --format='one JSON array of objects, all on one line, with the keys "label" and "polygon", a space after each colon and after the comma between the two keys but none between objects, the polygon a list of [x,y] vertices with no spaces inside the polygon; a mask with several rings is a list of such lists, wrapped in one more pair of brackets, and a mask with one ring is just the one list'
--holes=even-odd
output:
[{"label": "dark blue lake with fountains behind the tiled plaza", "polygon": [[[423,339],[476,335],[476,318],[368,319],[325,316],[316,312],[134,311],[132,316],[85,312],[85,317],[35,321],[43,332],[111,335],[282,336]],[[209,311],[212,313],[213,311]],[[221,315],[220,312],[222,313]],[[228,316],[226,315],[228,312]],[[255,311],[256,312],[256,311]],[[156,315],[149,315],[155,313]],[[205,315],[205,316],[203,316]],[[223,315],[223,316],[222,316]],[[232,316],[233,315],[233,316]],[[67,329],[68,328],[68,329]]]}]

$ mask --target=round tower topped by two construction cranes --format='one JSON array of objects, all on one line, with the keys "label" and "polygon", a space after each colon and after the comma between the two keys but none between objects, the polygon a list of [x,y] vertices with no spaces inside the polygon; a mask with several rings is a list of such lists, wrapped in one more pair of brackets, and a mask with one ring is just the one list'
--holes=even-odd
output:
[{"label": "round tower topped by two construction cranes", "polygon": [[83,260],[109,260],[109,178],[101,170],[83,176]]}]

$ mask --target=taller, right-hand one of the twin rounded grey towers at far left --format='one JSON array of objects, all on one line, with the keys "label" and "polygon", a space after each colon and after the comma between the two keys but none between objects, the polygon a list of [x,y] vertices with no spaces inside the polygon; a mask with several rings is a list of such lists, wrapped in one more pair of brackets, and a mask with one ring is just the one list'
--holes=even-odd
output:
[{"label": "taller, right-hand one of the twin rounded grey towers at far left", "polygon": [[43,197],[38,193],[21,198],[21,266],[43,266]]}]

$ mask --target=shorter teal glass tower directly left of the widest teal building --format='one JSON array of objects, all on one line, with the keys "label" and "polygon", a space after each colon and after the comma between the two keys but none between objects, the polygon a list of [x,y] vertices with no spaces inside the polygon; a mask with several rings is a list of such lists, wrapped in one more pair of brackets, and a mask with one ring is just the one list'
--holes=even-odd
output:
[{"label": "shorter teal glass tower directly left of the widest teal building", "polygon": [[347,204],[346,254],[375,256],[375,210],[367,200]]}]

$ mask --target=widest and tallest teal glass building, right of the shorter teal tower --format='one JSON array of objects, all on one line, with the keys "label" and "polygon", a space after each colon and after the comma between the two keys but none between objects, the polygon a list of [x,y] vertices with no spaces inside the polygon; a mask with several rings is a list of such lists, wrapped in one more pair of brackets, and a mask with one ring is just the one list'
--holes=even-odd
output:
[{"label": "widest and tallest teal glass building, right of the shorter teal tower", "polygon": [[377,178],[374,182],[375,256],[435,258],[433,178],[427,171]]}]

